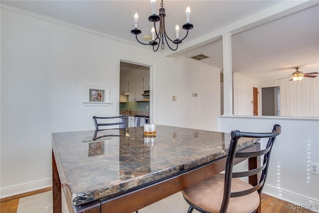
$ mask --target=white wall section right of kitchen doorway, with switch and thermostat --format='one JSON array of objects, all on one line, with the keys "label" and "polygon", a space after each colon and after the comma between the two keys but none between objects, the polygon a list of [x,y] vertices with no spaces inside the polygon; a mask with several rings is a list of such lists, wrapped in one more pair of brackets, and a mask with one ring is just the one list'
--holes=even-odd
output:
[{"label": "white wall section right of kitchen doorway, with switch and thermostat", "polygon": [[[158,91],[162,92],[158,92],[158,123],[217,130],[214,117],[220,115],[220,81],[216,78],[219,70],[190,60],[177,61],[180,63],[169,58],[160,59],[158,63],[159,67],[167,69],[166,74],[158,72]],[[193,93],[198,96],[193,97]],[[177,101],[173,101],[173,96]]]}]

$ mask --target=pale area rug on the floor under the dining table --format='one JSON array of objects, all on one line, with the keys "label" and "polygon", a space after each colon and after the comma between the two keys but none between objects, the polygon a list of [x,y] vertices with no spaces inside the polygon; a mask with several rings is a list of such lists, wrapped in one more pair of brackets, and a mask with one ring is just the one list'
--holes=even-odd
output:
[{"label": "pale area rug on the floor under the dining table", "polygon": [[[179,192],[139,210],[139,213],[187,213],[187,209],[188,205]],[[17,213],[52,212],[52,191],[21,198],[19,200]],[[64,196],[62,196],[62,213],[69,213]],[[193,213],[198,212],[194,210]]]}]

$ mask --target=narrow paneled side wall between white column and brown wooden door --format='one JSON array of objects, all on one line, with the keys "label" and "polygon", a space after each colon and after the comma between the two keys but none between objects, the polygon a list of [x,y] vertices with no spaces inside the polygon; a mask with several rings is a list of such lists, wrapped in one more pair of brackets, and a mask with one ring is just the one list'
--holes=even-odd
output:
[{"label": "narrow paneled side wall between white column and brown wooden door", "polygon": [[257,79],[233,74],[234,115],[254,115],[253,87],[258,88]]}]

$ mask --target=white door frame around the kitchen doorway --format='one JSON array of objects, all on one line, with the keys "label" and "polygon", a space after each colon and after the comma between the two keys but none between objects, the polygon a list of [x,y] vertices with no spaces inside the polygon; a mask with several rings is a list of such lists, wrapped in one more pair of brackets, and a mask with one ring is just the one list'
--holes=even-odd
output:
[{"label": "white door frame around the kitchen doorway", "polygon": [[[157,63],[155,61],[148,61],[141,58],[131,57],[127,55],[118,55],[117,68],[115,75],[115,87],[117,88],[117,100],[120,100],[120,67],[121,61],[142,66],[150,67],[150,122],[157,123]],[[119,113],[120,102],[115,102],[116,113]]]}]

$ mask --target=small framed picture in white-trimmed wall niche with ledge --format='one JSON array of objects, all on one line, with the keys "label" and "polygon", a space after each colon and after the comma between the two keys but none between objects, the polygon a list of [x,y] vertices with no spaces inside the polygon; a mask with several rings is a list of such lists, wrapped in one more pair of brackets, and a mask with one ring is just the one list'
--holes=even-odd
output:
[{"label": "small framed picture in white-trimmed wall niche with ledge", "polygon": [[85,101],[86,106],[110,105],[110,87],[93,86],[85,84]]}]

